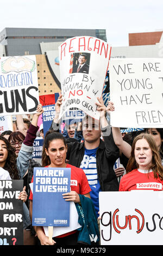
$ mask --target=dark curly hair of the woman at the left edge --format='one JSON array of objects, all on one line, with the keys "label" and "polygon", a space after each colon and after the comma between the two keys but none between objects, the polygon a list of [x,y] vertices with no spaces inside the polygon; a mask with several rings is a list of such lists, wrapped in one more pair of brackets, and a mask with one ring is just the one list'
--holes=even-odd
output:
[{"label": "dark curly hair of the woman at the left edge", "polygon": [[12,180],[18,180],[18,169],[16,165],[16,154],[15,149],[11,147],[8,139],[0,135],[0,140],[3,141],[7,145],[8,157],[5,161],[3,169],[8,170],[10,177]]}]

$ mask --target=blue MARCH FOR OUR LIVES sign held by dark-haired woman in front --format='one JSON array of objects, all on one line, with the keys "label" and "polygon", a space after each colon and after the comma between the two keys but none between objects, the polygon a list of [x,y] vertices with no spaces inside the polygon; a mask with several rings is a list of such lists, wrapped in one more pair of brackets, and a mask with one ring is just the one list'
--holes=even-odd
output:
[{"label": "blue MARCH FOR OUR LIVES sign held by dark-haired woman in front", "polygon": [[70,226],[70,202],[63,193],[70,192],[71,168],[34,168],[34,226]]}]

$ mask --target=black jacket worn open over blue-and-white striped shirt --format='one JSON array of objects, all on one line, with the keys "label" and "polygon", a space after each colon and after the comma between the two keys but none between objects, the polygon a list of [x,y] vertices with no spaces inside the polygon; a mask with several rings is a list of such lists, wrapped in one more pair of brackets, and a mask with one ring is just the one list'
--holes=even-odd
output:
[{"label": "black jacket worn open over blue-and-white striped shirt", "polygon": [[[66,159],[69,160],[68,163],[80,167],[85,150],[84,142],[67,143],[67,147]],[[119,185],[113,166],[119,154],[120,152],[114,143],[112,132],[109,136],[104,137],[104,141],[100,140],[96,153],[96,164],[102,191],[118,191]]]}]

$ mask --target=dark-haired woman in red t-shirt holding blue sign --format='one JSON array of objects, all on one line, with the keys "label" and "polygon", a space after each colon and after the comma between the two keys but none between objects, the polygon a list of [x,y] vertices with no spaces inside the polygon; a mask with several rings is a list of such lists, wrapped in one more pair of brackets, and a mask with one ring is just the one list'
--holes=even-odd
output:
[{"label": "dark-haired woman in red t-shirt holding blue sign", "polygon": [[[90,198],[90,186],[87,181],[84,171],[80,168],[71,166],[66,163],[67,145],[65,138],[59,132],[48,131],[45,136],[45,141],[42,150],[42,166],[52,168],[71,168],[71,192],[63,194],[63,198],[66,201],[73,201],[74,203],[80,203],[79,194],[84,194],[85,197]],[[32,205],[33,205],[33,194],[30,192],[30,217],[32,218]],[[36,234],[41,242],[41,245],[54,245],[55,241],[57,244],[70,245],[77,244],[76,230],[71,233],[55,237],[54,240],[49,241],[48,237],[42,230],[42,227],[35,227]]]}]

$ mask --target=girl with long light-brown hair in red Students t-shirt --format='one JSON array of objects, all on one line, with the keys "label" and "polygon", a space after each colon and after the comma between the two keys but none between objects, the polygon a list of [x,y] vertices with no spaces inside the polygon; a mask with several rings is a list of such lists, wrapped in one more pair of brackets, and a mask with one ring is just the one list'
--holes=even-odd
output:
[{"label": "girl with long light-brown hair in red Students t-shirt", "polygon": [[135,137],[126,173],[120,181],[119,191],[163,190],[163,166],[151,135],[141,133]]}]

